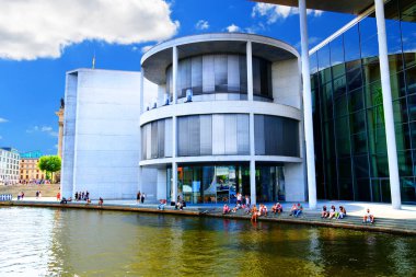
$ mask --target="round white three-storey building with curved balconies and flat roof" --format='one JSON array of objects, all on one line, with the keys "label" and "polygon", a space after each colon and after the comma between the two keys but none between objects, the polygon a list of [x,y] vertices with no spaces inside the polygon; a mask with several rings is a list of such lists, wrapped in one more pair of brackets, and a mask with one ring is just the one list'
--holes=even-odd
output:
[{"label": "round white three-storey building with curved balconies and flat roof", "polygon": [[[159,44],[141,60],[140,191],[189,204],[305,200],[299,55],[249,34]],[[142,80],[143,86],[143,80]]]}]

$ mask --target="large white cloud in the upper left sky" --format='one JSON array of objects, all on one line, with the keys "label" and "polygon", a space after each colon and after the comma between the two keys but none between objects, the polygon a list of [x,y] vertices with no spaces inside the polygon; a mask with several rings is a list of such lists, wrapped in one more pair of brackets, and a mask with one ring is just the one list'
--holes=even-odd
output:
[{"label": "large white cloud in the upper left sky", "polygon": [[180,26],[163,0],[0,0],[0,58],[58,58],[88,39],[128,45],[172,37]]}]

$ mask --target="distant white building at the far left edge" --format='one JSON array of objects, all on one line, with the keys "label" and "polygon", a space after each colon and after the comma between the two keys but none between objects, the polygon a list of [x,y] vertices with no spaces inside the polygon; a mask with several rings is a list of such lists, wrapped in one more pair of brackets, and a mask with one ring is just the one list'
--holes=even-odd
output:
[{"label": "distant white building at the far left edge", "polygon": [[20,154],[16,149],[0,148],[0,185],[19,183],[19,160]]}]

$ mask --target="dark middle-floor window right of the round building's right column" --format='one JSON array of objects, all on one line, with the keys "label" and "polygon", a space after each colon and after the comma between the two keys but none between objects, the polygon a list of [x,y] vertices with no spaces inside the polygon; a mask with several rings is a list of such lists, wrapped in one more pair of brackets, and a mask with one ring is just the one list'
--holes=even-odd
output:
[{"label": "dark middle-floor window right of the round building's right column", "polygon": [[257,155],[299,157],[299,122],[271,115],[254,115]]}]

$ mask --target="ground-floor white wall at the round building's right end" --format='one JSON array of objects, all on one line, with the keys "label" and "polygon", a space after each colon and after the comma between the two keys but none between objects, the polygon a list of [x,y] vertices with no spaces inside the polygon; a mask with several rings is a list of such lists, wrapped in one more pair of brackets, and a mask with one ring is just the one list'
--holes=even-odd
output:
[{"label": "ground-floor white wall at the round building's right end", "polygon": [[305,194],[305,174],[302,163],[285,163],[285,191],[287,201],[304,201]]}]

